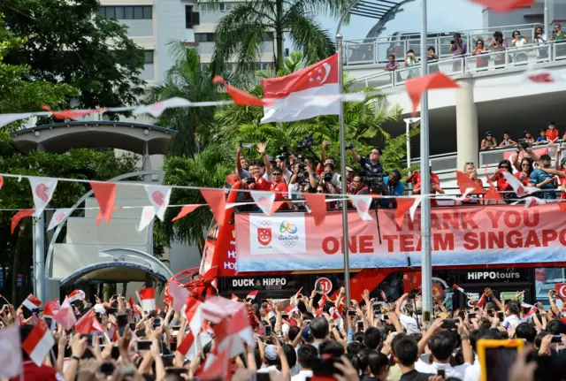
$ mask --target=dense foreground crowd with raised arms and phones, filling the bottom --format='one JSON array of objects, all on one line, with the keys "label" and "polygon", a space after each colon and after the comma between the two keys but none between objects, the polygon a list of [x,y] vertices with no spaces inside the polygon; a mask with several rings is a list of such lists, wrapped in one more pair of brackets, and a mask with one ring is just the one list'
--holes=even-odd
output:
[{"label": "dense foreground crowd with raised arms and phones, filling the bottom", "polygon": [[[19,325],[24,362],[23,373],[13,377],[14,381],[479,381],[482,367],[497,367],[497,380],[558,380],[566,377],[563,368],[546,369],[544,374],[554,374],[552,378],[535,373],[537,358],[554,359],[566,346],[564,309],[559,308],[557,298],[562,306],[566,301],[555,290],[548,296],[550,308],[545,309],[539,302],[533,306],[522,303],[523,293],[516,293],[516,300],[500,301],[486,288],[479,301],[470,300],[470,308],[448,310],[440,295],[434,300],[430,322],[421,316],[417,290],[397,301],[389,301],[383,292],[379,298],[370,298],[365,290],[363,299],[351,301],[350,306],[345,305],[343,288],[335,299],[316,290],[278,302],[233,298],[225,300],[226,308],[233,308],[235,302],[237,309],[246,309],[249,322],[240,322],[236,331],[226,331],[222,323],[204,319],[201,331],[210,340],[192,353],[184,344],[194,331],[194,317],[187,309],[175,312],[168,303],[164,310],[143,310],[120,295],[110,301],[96,298],[94,305],[74,302],[78,322],[96,311],[100,323],[93,324],[88,334],[77,332],[79,323],[64,330],[61,325],[54,327],[50,316],[34,313],[26,318],[22,308],[16,310],[9,304],[0,312],[0,325],[2,330]],[[36,325],[45,323],[54,342],[38,358],[37,347],[30,350],[28,342],[37,339]],[[253,345],[242,343],[241,354],[232,358],[220,355],[216,340],[248,324],[253,328]],[[3,361],[11,351],[2,342],[2,330],[0,363],[7,367]],[[508,339],[522,339],[527,347],[509,363],[482,361],[478,357],[482,339],[501,340],[501,346]],[[227,373],[222,377],[218,370],[210,371],[210,367],[225,365]]]}]

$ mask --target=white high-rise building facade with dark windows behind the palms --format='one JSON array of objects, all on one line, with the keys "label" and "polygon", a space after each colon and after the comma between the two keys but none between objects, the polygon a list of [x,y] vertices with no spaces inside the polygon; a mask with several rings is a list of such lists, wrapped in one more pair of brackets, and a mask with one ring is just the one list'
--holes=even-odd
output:
[{"label": "white high-rise building facade with dark windows behind the palms", "polygon": [[[215,30],[222,17],[237,2],[197,3],[194,0],[101,0],[99,14],[118,19],[128,27],[128,36],[145,51],[142,79],[149,85],[160,83],[173,65],[171,42],[182,41],[195,47],[203,67],[210,65]],[[274,62],[273,36],[266,34],[258,70]],[[233,64],[228,65],[228,69]]]}]

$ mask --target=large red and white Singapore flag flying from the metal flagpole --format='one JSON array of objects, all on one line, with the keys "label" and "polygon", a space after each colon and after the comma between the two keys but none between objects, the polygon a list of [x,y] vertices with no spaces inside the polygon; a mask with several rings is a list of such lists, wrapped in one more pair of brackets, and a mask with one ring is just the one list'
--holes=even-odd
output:
[{"label": "large red and white Singapore flag flying from the metal flagpole", "polygon": [[292,72],[283,77],[261,80],[264,99],[264,118],[261,123],[292,122],[317,117],[318,115],[338,115],[340,103],[328,103],[313,107],[307,103],[314,95],[338,95],[338,54],[334,54],[314,65]]}]

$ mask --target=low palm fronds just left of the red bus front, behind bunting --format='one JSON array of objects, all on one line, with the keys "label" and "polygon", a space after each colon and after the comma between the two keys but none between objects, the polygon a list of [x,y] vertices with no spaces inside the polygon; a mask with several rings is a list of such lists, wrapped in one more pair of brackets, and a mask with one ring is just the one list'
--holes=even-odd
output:
[{"label": "low palm fronds just left of the red bus front, behind bunting", "polygon": [[[164,164],[164,185],[192,187],[224,187],[226,176],[233,171],[234,153],[224,148],[210,145],[192,157],[170,156]],[[199,191],[173,189],[171,205],[205,203]],[[156,221],[154,240],[157,244],[169,247],[172,241],[197,245],[204,248],[206,230],[212,221],[209,208],[198,208],[189,216],[171,222],[180,208],[168,208],[164,222]]]}]

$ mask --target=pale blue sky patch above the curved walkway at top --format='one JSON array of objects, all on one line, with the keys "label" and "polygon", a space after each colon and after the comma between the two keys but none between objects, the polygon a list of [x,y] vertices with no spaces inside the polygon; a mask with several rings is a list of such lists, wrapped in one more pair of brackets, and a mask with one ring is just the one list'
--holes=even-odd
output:
[{"label": "pale blue sky patch above the curved walkway at top", "polygon": [[[428,30],[431,32],[452,32],[483,27],[482,6],[472,4],[469,0],[428,0],[426,4]],[[415,0],[403,5],[402,9],[403,11],[397,13],[394,20],[386,24],[381,36],[389,36],[394,32],[420,32],[421,2]],[[329,29],[331,35],[335,35],[338,20],[325,17],[317,19],[325,29]],[[344,40],[365,38],[377,22],[376,19],[352,16],[349,25],[342,27]]]}]

